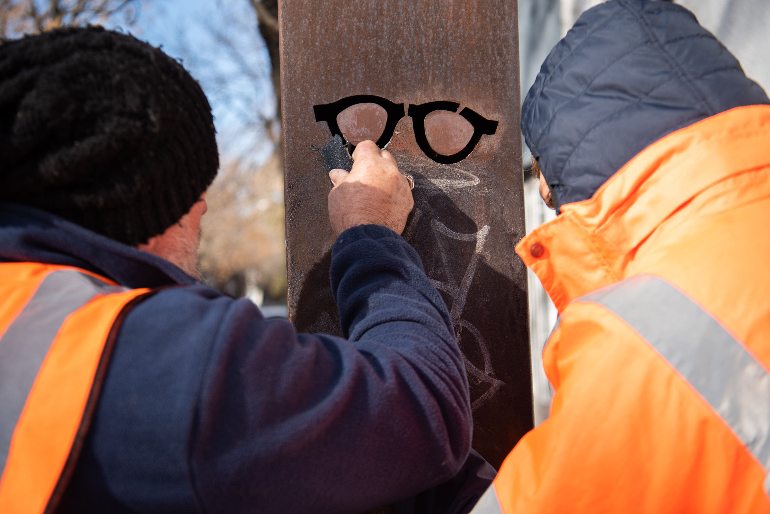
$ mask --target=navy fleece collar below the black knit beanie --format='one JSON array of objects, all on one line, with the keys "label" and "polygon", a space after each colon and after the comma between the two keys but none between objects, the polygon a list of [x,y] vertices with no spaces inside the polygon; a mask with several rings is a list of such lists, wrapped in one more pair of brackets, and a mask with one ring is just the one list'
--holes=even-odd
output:
[{"label": "navy fleece collar below the black knit beanie", "polygon": [[74,266],[126,287],[198,282],[168,260],[42,210],[0,202],[0,262]]}]

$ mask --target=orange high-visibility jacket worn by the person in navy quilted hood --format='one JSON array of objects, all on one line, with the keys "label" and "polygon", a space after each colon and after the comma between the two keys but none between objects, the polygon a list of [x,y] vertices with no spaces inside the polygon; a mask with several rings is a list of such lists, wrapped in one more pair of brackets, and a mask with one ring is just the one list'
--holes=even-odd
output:
[{"label": "orange high-visibility jacket worn by the person in navy quilted hood", "polygon": [[658,140],[517,253],[560,314],[554,399],[473,513],[770,512],[770,106]]}]

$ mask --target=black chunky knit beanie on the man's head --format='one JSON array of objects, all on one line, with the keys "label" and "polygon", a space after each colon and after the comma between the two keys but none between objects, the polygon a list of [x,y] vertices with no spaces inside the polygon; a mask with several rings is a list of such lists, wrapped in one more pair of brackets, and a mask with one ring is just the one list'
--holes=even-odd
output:
[{"label": "black chunky knit beanie on the man's head", "polygon": [[0,200],[135,246],[218,168],[209,102],[160,49],[101,27],[0,44]]}]

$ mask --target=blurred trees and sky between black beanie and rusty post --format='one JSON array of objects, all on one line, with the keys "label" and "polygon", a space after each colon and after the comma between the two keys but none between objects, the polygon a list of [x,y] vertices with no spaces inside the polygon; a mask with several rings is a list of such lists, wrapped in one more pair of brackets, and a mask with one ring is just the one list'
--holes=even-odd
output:
[{"label": "blurred trees and sky between black beanie and rusty post", "polygon": [[286,304],[277,0],[0,0],[0,37],[104,25],[162,49],[212,104],[221,167],[209,188],[206,281],[260,306]]}]

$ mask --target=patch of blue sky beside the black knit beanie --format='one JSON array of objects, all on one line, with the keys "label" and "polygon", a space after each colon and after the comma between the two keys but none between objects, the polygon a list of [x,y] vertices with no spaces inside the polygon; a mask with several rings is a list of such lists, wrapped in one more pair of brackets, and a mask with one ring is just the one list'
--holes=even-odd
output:
[{"label": "patch of blue sky beside the black knit beanie", "polygon": [[199,80],[225,160],[257,166],[266,160],[273,144],[262,119],[274,116],[275,101],[269,56],[248,0],[146,2],[136,25],[124,29],[162,45]]}]

